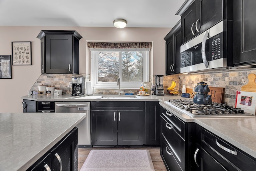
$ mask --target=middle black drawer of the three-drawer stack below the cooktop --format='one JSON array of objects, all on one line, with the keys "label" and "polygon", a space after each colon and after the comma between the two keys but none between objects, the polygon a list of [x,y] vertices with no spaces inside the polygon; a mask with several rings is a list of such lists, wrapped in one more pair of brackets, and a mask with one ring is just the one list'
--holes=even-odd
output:
[{"label": "middle black drawer of the three-drawer stack below the cooktop", "polygon": [[185,141],[180,135],[173,129],[172,123],[168,122],[162,117],[162,137],[166,140],[169,146],[169,150],[172,151],[172,155],[179,163],[180,167],[185,169]]}]

